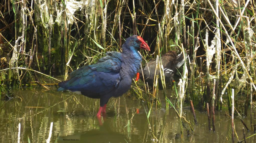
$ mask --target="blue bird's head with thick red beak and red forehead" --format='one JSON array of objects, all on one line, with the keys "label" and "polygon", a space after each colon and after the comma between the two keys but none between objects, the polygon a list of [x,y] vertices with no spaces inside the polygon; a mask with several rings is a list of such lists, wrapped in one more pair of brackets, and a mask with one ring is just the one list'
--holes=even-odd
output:
[{"label": "blue bird's head with thick red beak and red forehead", "polygon": [[141,48],[150,51],[150,48],[148,47],[147,43],[140,36],[137,35],[133,35],[127,38],[125,41],[125,45],[127,45],[129,48],[134,48],[137,50]]}]

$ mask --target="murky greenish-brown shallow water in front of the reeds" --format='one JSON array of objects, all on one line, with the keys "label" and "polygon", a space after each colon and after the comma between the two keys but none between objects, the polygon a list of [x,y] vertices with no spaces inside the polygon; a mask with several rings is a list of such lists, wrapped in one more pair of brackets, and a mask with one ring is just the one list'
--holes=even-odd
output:
[{"label": "murky greenish-brown shallow water in front of the reeds", "polygon": [[[127,93],[120,98],[111,98],[106,116],[98,119],[95,116],[98,99],[52,90],[14,90],[15,98],[0,100],[0,142],[18,142],[19,123],[20,142],[46,142],[51,122],[50,142],[232,142],[231,119],[225,116],[225,112],[216,112],[214,133],[208,130],[206,113],[196,111],[199,124],[195,125],[192,113],[184,108],[194,132],[187,136],[184,129],[184,140],[181,140],[176,138],[180,134],[180,121],[174,109],[166,111],[165,106],[153,108],[147,120],[146,104]],[[164,99],[161,101],[163,103]],[[244,121],[250,127],[250,118]],[[234,124],[237,136],[242,140],[244,126],[238,118],[234,119]],[[246,131],[246,137],[252,134]],[[237,136],[235,134],[236,142]],[[247,142],[255,141],[254,136],[247,139]]]}]

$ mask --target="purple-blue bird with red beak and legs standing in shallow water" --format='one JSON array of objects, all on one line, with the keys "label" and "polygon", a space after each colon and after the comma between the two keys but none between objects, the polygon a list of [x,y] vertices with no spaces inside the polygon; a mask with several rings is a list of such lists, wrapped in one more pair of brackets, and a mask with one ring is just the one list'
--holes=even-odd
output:
[{"label": "purple-blue bird with red beak and legs standing in shallow water", "polygon": [[147,43],[137,35],[126,39],[122,53],[106,52],[106,56],[94,65],[82,66],[70,74],[70,79],[59,83],[58,91],[71,91],[90,98],[100,99],[101,112],[105,113],[106,104],[111,97],[126,93],[132,84],[132,78],[140,68],[142,57],[139,49],[150,51]]}]

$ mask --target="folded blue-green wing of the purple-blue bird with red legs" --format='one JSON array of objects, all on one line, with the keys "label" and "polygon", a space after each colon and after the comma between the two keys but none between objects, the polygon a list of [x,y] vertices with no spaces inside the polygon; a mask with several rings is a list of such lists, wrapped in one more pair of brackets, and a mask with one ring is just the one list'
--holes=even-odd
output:
[{"label": "folded blue-green wing of the purple-blue bird with red legs", "polygon": [[96,64],[83,66],[70,74],[59,86],[71,91],[106,94],[120,82],[121,53],[107,52]]}]

